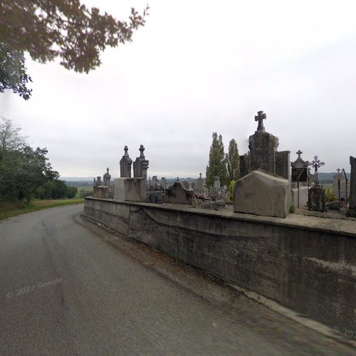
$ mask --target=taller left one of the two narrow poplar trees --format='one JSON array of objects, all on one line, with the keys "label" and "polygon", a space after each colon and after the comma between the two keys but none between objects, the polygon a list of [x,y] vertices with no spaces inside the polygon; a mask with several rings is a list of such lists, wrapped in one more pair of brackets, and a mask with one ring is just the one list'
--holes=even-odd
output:
[{"label": "taller left one of the two narrow poplar trees", "polygon": [[206,166],[206,187],[212,187],[214,185],[214,177],[220,177],[220,184],[224,186],[226,184],[226,158],[224,152],[224,143],[222,142],[222,136],[216,132],[213,132],[213,141],[211,142],[209,152],[209,164]]}]

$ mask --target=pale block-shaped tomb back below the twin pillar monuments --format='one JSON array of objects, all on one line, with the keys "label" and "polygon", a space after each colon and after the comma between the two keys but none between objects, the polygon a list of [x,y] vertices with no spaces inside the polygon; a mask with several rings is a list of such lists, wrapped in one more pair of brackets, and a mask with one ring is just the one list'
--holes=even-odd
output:
[{"label": "pale block-shaped tomb back below the twin pillar monuments", "polygon": [[116,178],[114,181],[114,200],[145,201],[146,179]]}]

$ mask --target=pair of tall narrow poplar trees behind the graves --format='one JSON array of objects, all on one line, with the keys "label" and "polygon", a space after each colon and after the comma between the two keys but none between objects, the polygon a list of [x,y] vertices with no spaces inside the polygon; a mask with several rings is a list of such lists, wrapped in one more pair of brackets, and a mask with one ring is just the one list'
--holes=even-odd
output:
[{"label": "pair of tall narrow poplar trees behind the graves", "polygon": [[213,132],[213,140],[211,142],[209,152],[209,164],[206,166],[206,187],[214,186],[214,177],[220,177],[220,184],[227,187],[231,182],[239,179],[240,175],[240,160],[239,148],[236,140],[232,139],[229,142],[228,152],[224,152],[224,143],[222,136]]}]

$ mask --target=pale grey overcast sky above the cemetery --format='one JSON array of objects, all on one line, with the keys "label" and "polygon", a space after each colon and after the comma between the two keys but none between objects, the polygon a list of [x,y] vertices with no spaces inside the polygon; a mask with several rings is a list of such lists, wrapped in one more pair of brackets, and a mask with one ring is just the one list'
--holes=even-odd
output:
[{"label": "pale grey overcast sky above the cemetery", "polygon": [[[82,1],[117,19],[147,1]],[[120,3],[117,5],[117,3]],[[356,155],[356,1],[151,0],[132,43],[97,70],[27,61],[33,94],[0,95],[0,115],[47,147],[64,177],[120,176],[125,145],[145,145],[147,175],[205,176],[212,132],[240,155],[258,110],[278,150],[318,155],[320,172],[350,171]]]}]

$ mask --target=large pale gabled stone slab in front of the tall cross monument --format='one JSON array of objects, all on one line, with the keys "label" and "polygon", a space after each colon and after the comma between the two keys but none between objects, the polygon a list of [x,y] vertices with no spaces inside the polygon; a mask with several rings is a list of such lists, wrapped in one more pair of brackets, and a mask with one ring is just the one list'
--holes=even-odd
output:
[{"label": "large pale gabled stone slab in front of the tall cross monument", "polygon": [[275,174],[253,171],[233,187],[234,212],[285,218],[290,206],[290,182]]}]

